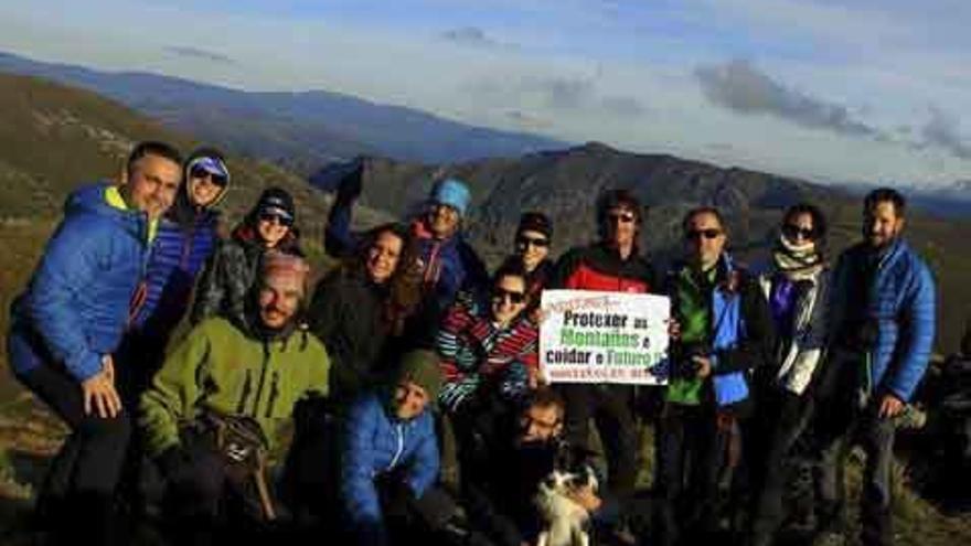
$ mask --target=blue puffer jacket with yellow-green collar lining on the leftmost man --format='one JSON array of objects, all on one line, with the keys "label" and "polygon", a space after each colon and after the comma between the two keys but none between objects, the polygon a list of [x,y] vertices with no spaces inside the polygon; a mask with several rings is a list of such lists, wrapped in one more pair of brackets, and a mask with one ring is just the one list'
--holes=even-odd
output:
[{"label": "blue puffer jacket with yellow-green collar lining on the leftmost man", "polygon": [[145,271],[148,217],[109,205],[108,188],[87,185],[67,199],[64,220],[13,303],[8,350],[17,374],[53,360],[81,382],[118,345]]}]

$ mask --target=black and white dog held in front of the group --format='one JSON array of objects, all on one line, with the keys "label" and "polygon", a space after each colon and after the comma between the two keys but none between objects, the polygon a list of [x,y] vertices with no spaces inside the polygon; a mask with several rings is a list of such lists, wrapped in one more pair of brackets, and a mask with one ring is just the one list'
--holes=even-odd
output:
[{"label": "black and white dog held in front of the group", "polygon": [[542,482],[533,501],[545,523],[536,546],[589,546],[586,531],[589,512],[570,499],[574,491],[591,488],[598,483],[594,470],[583,465],[576,471],[553,470]]}]

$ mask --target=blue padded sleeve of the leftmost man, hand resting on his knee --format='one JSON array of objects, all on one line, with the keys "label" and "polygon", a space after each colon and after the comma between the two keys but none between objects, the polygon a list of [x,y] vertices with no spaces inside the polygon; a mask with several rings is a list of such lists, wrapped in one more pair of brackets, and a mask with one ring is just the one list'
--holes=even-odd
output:
[{"label": "blue padded sleeve of the leftmost man, hand resting on his knee", "polygon": [[65,221],[47,243],[28,299],[34,328],[78,382],[102,370],[103,355],[88,345],[75,295],[99,275],[106,237],[97,223]]}]

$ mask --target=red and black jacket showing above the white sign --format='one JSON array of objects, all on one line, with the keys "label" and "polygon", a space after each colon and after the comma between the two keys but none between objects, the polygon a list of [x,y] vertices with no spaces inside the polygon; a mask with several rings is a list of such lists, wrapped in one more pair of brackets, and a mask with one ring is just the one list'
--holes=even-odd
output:
[{"label": "red and black jacket showing above the white sign", "polygon": [[563,255],[547,288],[650,293],[658,283],[654,267],[637,249],[621,259],[616,248],[597,243]]}]

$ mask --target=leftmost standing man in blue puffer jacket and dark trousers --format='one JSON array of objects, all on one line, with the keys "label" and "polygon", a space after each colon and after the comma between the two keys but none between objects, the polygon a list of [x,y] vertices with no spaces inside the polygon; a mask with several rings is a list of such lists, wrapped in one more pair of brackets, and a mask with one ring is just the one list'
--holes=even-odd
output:
[{"label": "leftmost standing man in blue puffer jacket and dark trousers", "polygon": [[39,502],[49,511],[44,520],[55,542],[110,540],[111,495],[130,431],[113,354],[156,225],[181,176],[174,148],[142,142],[120,184],[75,191],[11,308],[7,349],[13,373],[71,428]]}]

